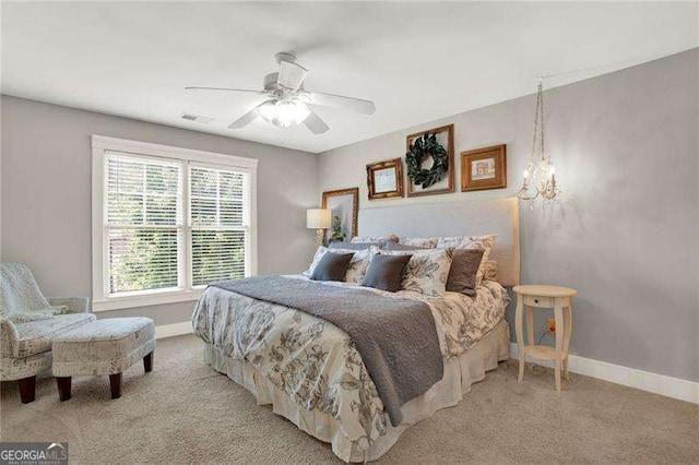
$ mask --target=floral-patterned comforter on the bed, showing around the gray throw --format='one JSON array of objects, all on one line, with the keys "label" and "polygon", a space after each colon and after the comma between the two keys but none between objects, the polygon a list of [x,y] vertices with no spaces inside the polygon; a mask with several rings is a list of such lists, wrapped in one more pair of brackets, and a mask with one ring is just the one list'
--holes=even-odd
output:
[{"label": "floral-patterned comforter on the bed, showing around the gray throw", "polygon": [[[458,357],[495,327],[509,302],[505,288],[487,281],[475,297],[370,290],[426,302],[445,360]],[[303,408],[332,416],[347,439],[362,449],[386,434],[390,422],[381,398],[347,334],[336,326],[296,309],[216,287],[209,287],[199,299],[192,325],[197,336],[226,356],[252,365]]]}]

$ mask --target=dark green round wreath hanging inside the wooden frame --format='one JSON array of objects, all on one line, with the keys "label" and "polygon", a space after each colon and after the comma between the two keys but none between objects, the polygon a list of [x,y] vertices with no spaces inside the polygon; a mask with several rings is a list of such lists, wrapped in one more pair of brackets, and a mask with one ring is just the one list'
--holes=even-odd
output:
[{"label": "dark green round wreath hanging inside the wooden frame", "polygon": [[[420,168],[420,164],[428,156],[433,158],[431,168]],[[411,144],[410,152],[405,154],[405,165],[407,165],[407,177],[426,189],[441,181],[445,177],[449,169],[449,154],[437,142],[437,134],[430,135],[429,132],[426,132]]]}]

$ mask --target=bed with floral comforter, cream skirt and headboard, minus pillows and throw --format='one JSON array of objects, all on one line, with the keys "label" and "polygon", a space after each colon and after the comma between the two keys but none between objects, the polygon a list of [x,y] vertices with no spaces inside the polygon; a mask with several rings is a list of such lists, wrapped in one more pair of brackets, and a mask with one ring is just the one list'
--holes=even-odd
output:
[{"label": "bed with floral comforter, cream skirt and headboard, minus pillows and throw", "polygon": [[[509,330],[503,319],[509,297],[503,285],[519,281],[517,201],[453,202],[441,207],[448,213],[438,216],[427,204],[360,212],[359,234],[364,236],[395,231],[413,237],[498,234],[494,258],[500,264],[499,283],[484,281],[474,297],[357,290],[395,302],[423,302],[434,318],[443,372],[424,394],[400,406],[400,422],[387,412],[348,334],[295,308],[209,287],[192,315],[194,334],[204,342],[205,361],[254,394],[259,405],[271,404],[275,414],[331,443],[341,460],[380,457],[406,428],[458,404],[472,383],[484,379],[486,371],[509,355]],[[410,219],[415,217],[424,220]],[[303,275],[285,278],[299,285],[308,279]],[[359,288],[335,282],[312,285],[350,294]]]}]

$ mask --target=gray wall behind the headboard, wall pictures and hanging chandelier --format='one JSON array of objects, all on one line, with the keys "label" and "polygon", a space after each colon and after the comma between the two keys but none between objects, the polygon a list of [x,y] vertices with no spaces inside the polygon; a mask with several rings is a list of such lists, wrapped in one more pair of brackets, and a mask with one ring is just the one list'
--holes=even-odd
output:
[{"label": "gray wall behind the headboard, wall pictures and hanging chandelier", "polygon": [[[565,196],[548,210],[521,210],[522,282],[579,290],[571,353],[691,381],[699,381],[698,64],[694,49],[547,91],[546,141]],[[363,208],[514,195],[533,112],[528,96],[323,153],[320,187],[359,186]],[[507,143],[508,188],[367,200],[367,163],[404,155],[406,134],[447,123],[455,124],[458,166],[462,151]]]}]

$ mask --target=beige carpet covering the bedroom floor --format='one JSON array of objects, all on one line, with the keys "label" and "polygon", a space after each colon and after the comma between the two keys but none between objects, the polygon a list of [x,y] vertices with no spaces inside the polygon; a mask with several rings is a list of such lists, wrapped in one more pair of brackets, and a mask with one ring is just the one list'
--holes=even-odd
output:
[{"label": "beige carpet covering the bedroom floor", "polygon": [[[699,463],[699,406],[517,363],[488,373],[457,407],[408,429],[378,463]],[[3,441],[68,441],[72,463],[337,463],[330,445],[257,406],[246,390],[203,363],[193,336],[158,342],[154,371],[125,373],[122,397],[106,378],[37,383],[22,405],[2,383]]]}]

